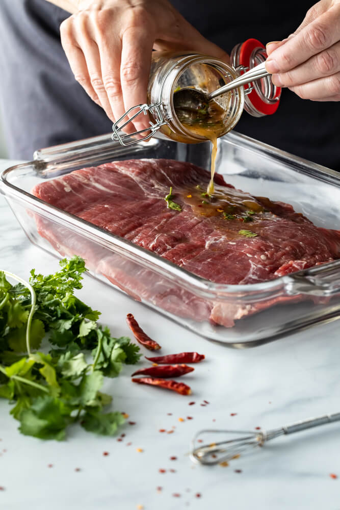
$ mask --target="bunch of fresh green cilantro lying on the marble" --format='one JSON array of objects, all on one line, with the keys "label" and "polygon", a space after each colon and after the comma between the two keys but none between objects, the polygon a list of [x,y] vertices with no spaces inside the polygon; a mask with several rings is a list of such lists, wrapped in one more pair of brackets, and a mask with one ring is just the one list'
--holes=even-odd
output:
[{"label": "bunch of fresh green cilantro lying on the marble", "polygon": [[100,391],[103,378],[137,363],[139,347],[112,337],[97,323],[100,312],[74,296],[84,260],[75,256],[60,266],[47,276],[33,269],[29,283],[7,273],[17,285],[0,271],[0,397],[14,403],[10,413],[25,435],[62,440],[79,422],[112,436],[124,417],[104,410],[112,397]]}]

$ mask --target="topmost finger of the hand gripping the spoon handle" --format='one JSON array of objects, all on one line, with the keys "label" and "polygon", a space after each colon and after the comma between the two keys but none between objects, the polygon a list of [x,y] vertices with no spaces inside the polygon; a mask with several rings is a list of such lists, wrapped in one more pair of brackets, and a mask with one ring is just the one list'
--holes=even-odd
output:
[{"label": "topmost finger of the hand gripping the spoon handle", "polygon": [[275,49],[266,61],[267,71],[273,74],[293,69],[335,44],[339,33],[340,4],[336,4]]}]

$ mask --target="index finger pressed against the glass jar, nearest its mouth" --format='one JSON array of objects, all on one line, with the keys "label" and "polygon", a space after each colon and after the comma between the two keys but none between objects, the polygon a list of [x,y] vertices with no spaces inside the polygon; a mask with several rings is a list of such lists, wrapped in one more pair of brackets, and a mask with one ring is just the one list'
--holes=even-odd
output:
[{"label": "index finger pressed against the glass jar, nearest its mouth", "polygon": [[[152,45],[153,34],[147,33],[144,27],[130,28],[123,33],[120,81],[125,111],[147,103]],[[136,112],[131,112],[129,116],[134,113]],[[150,127],[149,116],[141,113],[134,119],[134,126],[135,131]],[[144,136],[145,134],[146,132]]]}]

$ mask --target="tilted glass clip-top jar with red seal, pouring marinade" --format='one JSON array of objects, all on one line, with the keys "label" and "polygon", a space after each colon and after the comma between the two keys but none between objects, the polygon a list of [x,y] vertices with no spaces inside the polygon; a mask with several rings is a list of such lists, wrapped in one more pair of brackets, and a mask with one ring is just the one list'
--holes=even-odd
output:
[{"label": "tilted glass clip-top jar with red seal, pouring marinade", "polygon": [[[182,88],[194,88],[206,94],[238,78],[248,69],[267,59],[265,46],[256,39],[248,39],[232,49],[231,65],[206,55],[189,52],[153,52],[147,101],[145,105],[130,108],[113,125],[114,140],[130,145],[152,136],[184,143],[206,141],[206,137],[181,123],[174,108],[174,93]],[[238,123],[245,109],[260,117],[277,110],[281,89],[272,84],[270,76],[254,83],[232,89],[214,99],[223,111],[222,136]],[[150,129],[125,134],[124,127],[138,115],[149,115]],[[138,135],[138,138],[134,138]]]}]

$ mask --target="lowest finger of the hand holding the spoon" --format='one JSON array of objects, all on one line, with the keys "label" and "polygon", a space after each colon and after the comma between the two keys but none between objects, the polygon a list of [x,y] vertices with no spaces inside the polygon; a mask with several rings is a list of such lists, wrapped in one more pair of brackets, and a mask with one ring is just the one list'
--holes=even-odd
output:
[{"label": "lowest finger of the hand holding the spoon", "polygon": [[[289,87],[290,90],[295,92],[302,99],[312,99],[314,101],[320,100],[339,100],[340,98],[340,72],[333,74],[327,78],[319,78],[312,82],[305,83],[304,85],[297,85]],[[332,99],[329,99],[332,98]]]}]

